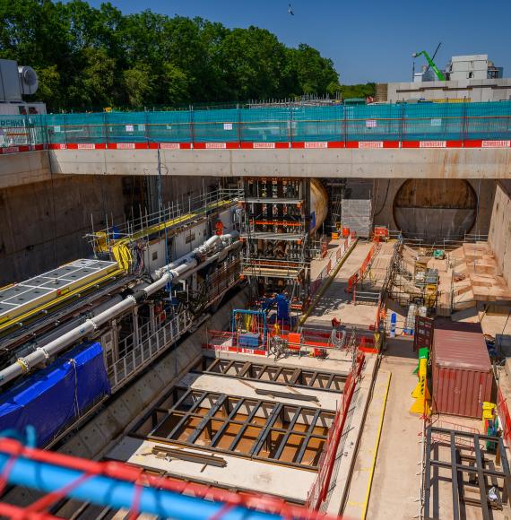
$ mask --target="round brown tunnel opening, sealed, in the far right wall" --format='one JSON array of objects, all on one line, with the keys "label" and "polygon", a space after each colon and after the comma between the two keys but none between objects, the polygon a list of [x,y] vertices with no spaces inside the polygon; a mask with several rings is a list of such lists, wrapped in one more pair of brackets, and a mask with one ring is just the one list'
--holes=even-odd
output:
[{"label": "round brown tunnel opening, sealed, in the far right wall", "polygon": [[477,195],[462,179],[409,179],[395,195],[393,211],[406,238],[456,240],[472,229]]}]

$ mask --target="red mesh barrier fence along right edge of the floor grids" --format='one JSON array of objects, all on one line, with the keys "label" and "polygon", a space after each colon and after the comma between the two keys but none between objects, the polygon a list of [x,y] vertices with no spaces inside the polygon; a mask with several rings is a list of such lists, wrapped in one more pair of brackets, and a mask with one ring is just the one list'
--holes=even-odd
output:
[{"label": "red mesh barrier fence along right edge of the floor grids", "polygon": [[335,413],[333,425],[329,430],[328,438],[326,439],[323,452],[320,455],[319,463],[317,464],[319,467],[319,472],[317,473],[316,480],[314,481],[307,495],[306,506],[315,511],[321,509],[322,505],[325,503],[325,499],[328,496],[328,491],[330,490],[333,466],[335,465],[335,461],[337,459],[337,451],[342,438],[346,417],[350,411],[351,397],[353,396],[353,391],[359,379],[360,371],[362,370],[364,364],[364,359],[364,354],[359,352],[357,354],[356,363],[351,369],[351,373],[346,378],[346,382],[344,383],[342,390],[341,402],[337,412]]}]

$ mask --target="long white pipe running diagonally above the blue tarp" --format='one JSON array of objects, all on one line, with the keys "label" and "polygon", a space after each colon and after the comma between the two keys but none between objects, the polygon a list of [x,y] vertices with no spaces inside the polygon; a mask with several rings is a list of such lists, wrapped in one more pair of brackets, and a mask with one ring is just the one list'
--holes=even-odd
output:
[{"label": "long white pipe running diagonally above the blue tarp", "polygon": [[[162,267],[155,273],[155,276],[158,278],[156,282],[152,282],[142,290],[138,290],[134,295],[126,297],[126,299],[123,299],[116,305],[101,312],[99,315],[85,320],[84,323],[74,327],[74,329],[56,338],[56,340],[48,342],[44,347],[37,348],[25,358],[20,358],[13,363],[13,365],[1,370],[0,386],[4,386],[15,377],[21,376],[23,373],[30,371],[30,368],[38,365],[44,360],[48,360],[48,358],[55,355],[57,352],[64,350],[65,347],[77,342],[87,334],[91,334],[98,330],[100,325],[103,325],[110,319],[126,312],[126,310],[129,310],[130,308],[134,308],[138,303],[147,299],[148,296],[163,289],[167,283],[177,280],[179,276],[183,276],[188,271],[194,270],[195,267],[200,264],[195,255],[206,255],[208,252],[212,251],[213,247],[218,245],[219,240],[221,246],[230,247],[230,240],[232,238],[237,238],[237,236],[237,232],[231,233],[230,235],[223,235],[222,237],[215,235],[212,238],[208,238],[204,242],[203,246],[197,247],[192,253],[181,256],[176,262]],[[207,260],[208,259],[206,259],[206,261]],[[173,266],[173,268],[169,269],[171,266]]]}]

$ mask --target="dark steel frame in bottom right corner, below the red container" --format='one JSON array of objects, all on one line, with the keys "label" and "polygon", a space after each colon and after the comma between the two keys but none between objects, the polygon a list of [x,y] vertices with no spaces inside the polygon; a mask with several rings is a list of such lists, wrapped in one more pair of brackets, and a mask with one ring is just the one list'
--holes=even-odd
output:
[{"label": "dark steel frame in bottom right corner, below the red container", "polygon": [[[434,439],[438,435],[448,438],[447,440]],[[460,443],[459,441],[462,441]],[[495,461],[485,458],[488,452],[481,449],[481,442],[494,443],[500,457],[501,470],[495,468]],[[470,443],[470,446],[468,444]],[[440,460],[438,447],[446,446],[449,449],[449,460]],[[467,455],[466,452],[471,455]],[[472,455],[473,454],[473,455]],[[480,435],[471,431],[459,431],[455,429],[437,428],[429,426],[426,430],[426,456],[425,456],[425,478],[424,478],[424,518],[437,517],[433,511],[430,515],[431,490],[435,491],[439,481],[438,469],[443,468],[451,472],[451,486],[453,494],[453,516],[454,520],[464,518],[464,505],[481,507],[482,518],[489,520],[490,507],[502,509],[502,504],[507,503],[511,494],[511,473],[507,462],[506,448],[502,438]],[[431,474],[433,470],[433,476]],[[468,475],[468,481],[463,480],[463,475]],[[478,489],[479,499],[468,497],[466,490]],[[494,488],[498,499],[489,502],[489,490]],[[439,490],[434,492],[437,499]]]}]

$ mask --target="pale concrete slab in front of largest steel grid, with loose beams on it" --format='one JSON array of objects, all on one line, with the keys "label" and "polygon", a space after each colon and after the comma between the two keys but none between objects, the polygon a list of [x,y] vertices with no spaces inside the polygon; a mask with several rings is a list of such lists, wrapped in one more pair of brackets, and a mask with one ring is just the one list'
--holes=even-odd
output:
[{"label": "pale concrete slab in front of largest steel grid, with loose beams on it", "polygon": [[[308,472],[279,464],[265,464],[259,461],[230,455],[219,455],[227,465],[223,468],[203,466],[181,460],[166,460],[152,455],[152,448],[161,446],[149,440],[126,437],[109,453],[108,458],[130,464],[139,464],[167,472],[171,476],[209,481],[213,485],[226,486],[235,490],[252,490],[272,493],[293,501],[305,502],[316,472]],[[183,451],[212,455],[207,450],[183,448]]]}]

